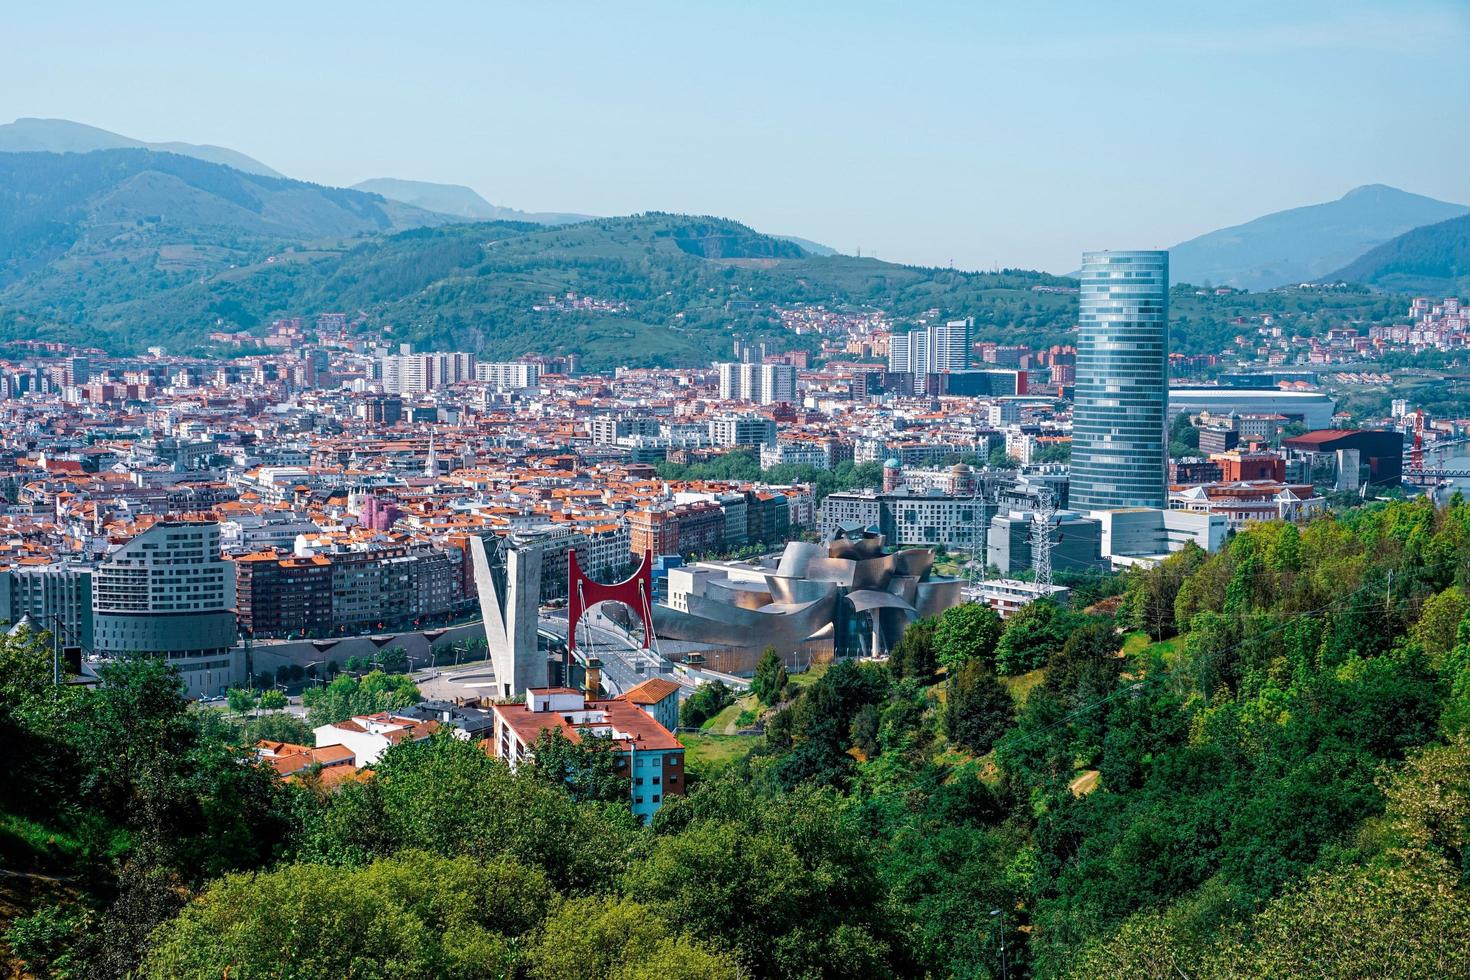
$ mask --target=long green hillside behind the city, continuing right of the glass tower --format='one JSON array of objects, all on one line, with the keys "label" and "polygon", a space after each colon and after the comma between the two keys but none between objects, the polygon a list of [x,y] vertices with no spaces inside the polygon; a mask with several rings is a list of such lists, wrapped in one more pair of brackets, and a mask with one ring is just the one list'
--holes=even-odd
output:
[{"label": "long green hillside behind the city, continuing right of the glass tower", "polygon": [[[900,323],[938,310],[973,316],[982,339],[1070,342],[1076,295],[1036,291],[1070,285],[1039,272],[814,254],[720,217],[462,223],[147,150],[0,153],[0,309],[16,311],[0,319],[0,339],[46,323],[47,335],[118,353],[190,351],[213,331],[345,310],[420,348],[673,366],[723,357],[734,336],[816,350],[817,338],[786,332],[772,310],[797,303],[881,309]],[[550,301],[567,292],[597,309]],[[1366,288],[1198,292],[1180,285],[1172,297],[1176,351],[1222,351],[1242,332],[1238,320],[1261,313],[1320,334],[1401,306]]]}]

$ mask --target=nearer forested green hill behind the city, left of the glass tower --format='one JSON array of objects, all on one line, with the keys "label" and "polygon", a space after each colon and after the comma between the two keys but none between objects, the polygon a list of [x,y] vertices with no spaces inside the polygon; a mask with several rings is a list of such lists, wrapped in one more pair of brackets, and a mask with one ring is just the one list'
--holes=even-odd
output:
[{"label": "nearer forested green hill behind the city, left of the glass tower", "polygon": [[[147,235],[146,220],[134,226],[119,232],[131,247],[104,260],[76,260],[96,250],[90,238],[57,248],[32,276],[0,291],[0,306],[71,325],[119,351],[188,350],[212,331],[262,332],[278,316],[345,310],[363,313],[368,329],[390,329],[425,350],[581,351],[589,367],[610,367],[707,363],[732,336],[776,335],[773,303],[872,304],[898,316],[939,307],[1047,342],[1064,336],[1075,304],[1033,292],[1066,282],[1044,273],[813,256],[719,217],[651,213],[559,228],[491,222],[244,244],[215,237],[215,245],[184,257],[179,245]],[[38,260],[43,251],[29,248]],[[175,269],[184,259],[187,269]],[[567,292],[594,309],[548,303]]]}]

